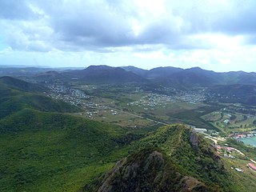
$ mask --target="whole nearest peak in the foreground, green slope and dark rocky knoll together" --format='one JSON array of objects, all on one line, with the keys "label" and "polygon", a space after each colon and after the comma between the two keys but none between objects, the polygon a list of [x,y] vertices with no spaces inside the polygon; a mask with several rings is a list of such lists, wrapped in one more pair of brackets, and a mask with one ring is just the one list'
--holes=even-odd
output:
[{"label": "whole nearest peak in the foreground, green slope and dark rocky knoll together", "polygon": [[163,126],[134,149],[84,191],[238,191],[214,146],[186,126]]}]

